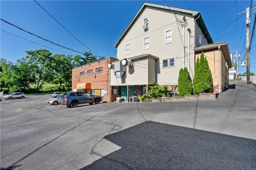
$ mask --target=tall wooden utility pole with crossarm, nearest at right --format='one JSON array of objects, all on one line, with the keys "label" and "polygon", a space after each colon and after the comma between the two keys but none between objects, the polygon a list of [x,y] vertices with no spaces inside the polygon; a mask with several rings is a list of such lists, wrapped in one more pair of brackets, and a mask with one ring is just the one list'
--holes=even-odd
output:
[{"label": "tall wooden utility pole with crossarm, nearest at right", "polygon": [[[250,11],[255,9],[256,7],[253,8],[246,8],[246,11],[242,12],[242,13],[246,13],[246,80],[247,80],[247,84],[250,84],[250,40],[249,40],[249,36],[250,36]],[[240,15],[241,13],[238,13],[237,15]]]}]

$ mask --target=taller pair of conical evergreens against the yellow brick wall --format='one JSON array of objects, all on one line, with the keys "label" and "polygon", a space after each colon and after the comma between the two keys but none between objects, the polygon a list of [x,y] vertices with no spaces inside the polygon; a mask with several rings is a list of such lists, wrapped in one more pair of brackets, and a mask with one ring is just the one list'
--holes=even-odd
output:
[{"label": "taller pair of conical evergreens against the yellow brick wall", "polygon": [[200,60],[197,58],[195,76],[193,79],[193,93],[210,93],[212,91],[211,70],[204,53],[201,53]]}]

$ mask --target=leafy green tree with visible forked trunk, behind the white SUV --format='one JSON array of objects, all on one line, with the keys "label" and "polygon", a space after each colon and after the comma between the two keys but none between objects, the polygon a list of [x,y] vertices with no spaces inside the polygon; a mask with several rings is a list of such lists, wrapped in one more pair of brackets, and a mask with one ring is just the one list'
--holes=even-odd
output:
[{"label": "leafy green tree with visible forked trunk, behind the white SUV", "polygon": [[32,69],[33,77],[36,81],[36,91],[43,87],[43,84],[49,80],[52,74],[52,57],[49,50],[39,49],[26,51],[28,64]]}]

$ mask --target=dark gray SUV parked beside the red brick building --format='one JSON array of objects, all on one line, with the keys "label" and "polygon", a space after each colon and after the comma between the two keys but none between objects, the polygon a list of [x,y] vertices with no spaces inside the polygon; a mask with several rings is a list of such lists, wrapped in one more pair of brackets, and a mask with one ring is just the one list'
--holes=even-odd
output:
[{"label": "dark gray SUV parked beside the red brick building", "polygon": [[69,92],[66,97],[62,98],[61,104],[67,107],[77,107],[84,103],[99,104],[101,101],[101,96],[95,96],[87,92]]}]

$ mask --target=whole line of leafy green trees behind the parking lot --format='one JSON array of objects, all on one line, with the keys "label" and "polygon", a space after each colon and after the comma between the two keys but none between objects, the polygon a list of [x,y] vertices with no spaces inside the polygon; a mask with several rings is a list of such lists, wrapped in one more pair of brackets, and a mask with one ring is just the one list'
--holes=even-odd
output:
[{"label": "whole line of leafy green trees behind the parking lot", "polygon": [[69,89],[72,83],[72,68],[97,61],[90,51],[85,52],[83,57],[52,55],[46,49],[30,50],[26,53],[27,56],[16,63],[0,59],[1,89],[8,89],[10,92],[24,91],[29,89],[31,84],[36,84],[36,91],[39,92],[45,82],[60,86],[64,84],[66,89]]}]

